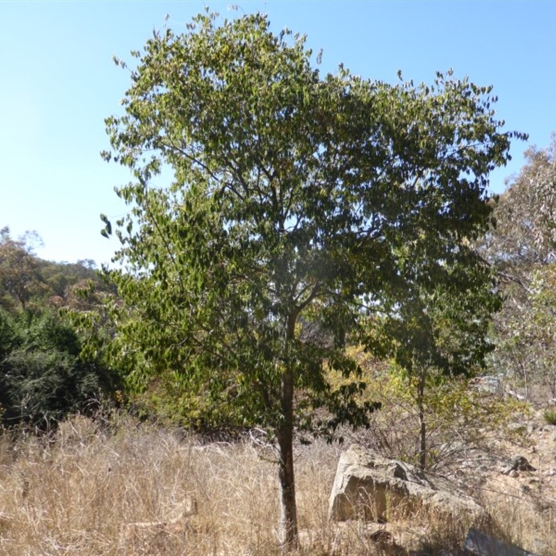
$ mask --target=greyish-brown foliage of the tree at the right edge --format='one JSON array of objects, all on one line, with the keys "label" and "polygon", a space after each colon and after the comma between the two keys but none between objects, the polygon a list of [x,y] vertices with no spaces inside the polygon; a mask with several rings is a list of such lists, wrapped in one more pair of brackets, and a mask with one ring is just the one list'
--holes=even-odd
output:
[{"label": "greyish-brown foliage of the tree at the right edge", "polygon": [[528,163],[509,182],[495,209],[497,227],[482,249],[502,279],[505,303],[495,320],[493,364],[556,395],[555,214],[556,137],[548,149],[532,147]]}]

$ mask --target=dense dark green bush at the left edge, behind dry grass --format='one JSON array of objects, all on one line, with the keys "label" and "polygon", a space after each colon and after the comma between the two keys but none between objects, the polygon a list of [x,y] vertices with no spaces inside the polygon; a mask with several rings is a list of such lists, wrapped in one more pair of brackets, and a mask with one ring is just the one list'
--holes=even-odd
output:
[{"label": "dense dark green bush at the left edge, behind dry grass", "polygon": [[0,310],[0,328],[4,426],[47,430],[68,414],[94,411],[101,393],[119,383],[111,369],[79,357],[75,330],[52,310]]}]

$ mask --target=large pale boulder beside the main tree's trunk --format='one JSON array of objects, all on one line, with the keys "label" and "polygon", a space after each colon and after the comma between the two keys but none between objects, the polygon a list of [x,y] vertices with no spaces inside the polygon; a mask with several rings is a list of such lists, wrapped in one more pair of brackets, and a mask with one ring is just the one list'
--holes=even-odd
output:
[{"label": "large pale boulder beside the main tree's trunk", "polygon": [[357,444],[343,452],[329,502],[332,520],[384,522],[423,509],[457,521],[467,516],[470,525],[489,519],[471,496],[445,477],[425,474]]}]

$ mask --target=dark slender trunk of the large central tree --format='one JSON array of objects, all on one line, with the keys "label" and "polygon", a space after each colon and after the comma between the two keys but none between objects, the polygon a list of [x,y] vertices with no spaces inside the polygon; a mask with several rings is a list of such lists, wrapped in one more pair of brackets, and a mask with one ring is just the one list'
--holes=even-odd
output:
[{"label": "dark slender trunk of the large central tree", "polygon": [[[293,338],[295,318],[288,319],[288,341]],[[279,471],[281,543],[284,550],[299,546],[297,533],[297,506],[295,504],[295,480],[293,476],[293,369],[287,366],[281,379],[282,424],[277,431],[280,448]]]}]

